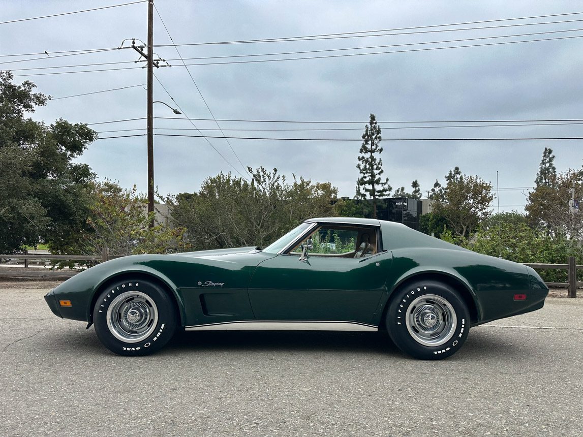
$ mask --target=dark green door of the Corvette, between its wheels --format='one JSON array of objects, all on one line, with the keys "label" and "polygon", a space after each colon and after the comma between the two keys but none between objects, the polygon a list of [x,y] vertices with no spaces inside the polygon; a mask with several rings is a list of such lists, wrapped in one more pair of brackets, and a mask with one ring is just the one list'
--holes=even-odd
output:
[{"label": "dark green door of the Corvette, between its wheels", "polygon": [[371,323],[385,289],[391,253],[363,258],[318,255],[308,252],[303,261],[297,252],[283,253],[259,264],[249,287],[257,320]]}]

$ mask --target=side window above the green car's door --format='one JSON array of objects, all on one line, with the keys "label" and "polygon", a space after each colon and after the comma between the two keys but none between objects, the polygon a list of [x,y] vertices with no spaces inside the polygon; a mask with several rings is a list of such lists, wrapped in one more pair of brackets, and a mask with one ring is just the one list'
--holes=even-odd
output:
[{"label": "side window above the green car's door", "polygon": [[363,258],[377,253],[377,230],[343,225],[322,225],[298,243],[290,255],[301,255],[301,245],[312,239],[310,256],[333,256],[339,258]]}]

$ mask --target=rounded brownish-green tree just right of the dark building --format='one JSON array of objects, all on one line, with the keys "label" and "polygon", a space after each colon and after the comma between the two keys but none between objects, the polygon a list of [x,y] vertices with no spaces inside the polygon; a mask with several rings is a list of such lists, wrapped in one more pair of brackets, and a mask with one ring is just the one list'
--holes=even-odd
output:
[{"label": "rounded brownish-green tree just right of the dark building", "polygon": [[458,167],[446,179],[445,202],[434,203],[433,212],[444,216],[456,235],[469,238],[480,221],[490,216],[492,185],[477,176],[462,175]]}]

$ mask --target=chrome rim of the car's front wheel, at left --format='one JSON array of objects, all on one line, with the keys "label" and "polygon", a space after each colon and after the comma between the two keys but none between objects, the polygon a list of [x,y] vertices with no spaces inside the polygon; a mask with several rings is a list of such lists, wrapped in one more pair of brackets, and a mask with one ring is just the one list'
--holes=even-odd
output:
[{"label": "chrome rim of the car's front wheel, at left", "polygon": [[158,309],[141,291],[126,291],[113,299],[107,309],[107,327],[118,340],[138,343],[156,329]]}]

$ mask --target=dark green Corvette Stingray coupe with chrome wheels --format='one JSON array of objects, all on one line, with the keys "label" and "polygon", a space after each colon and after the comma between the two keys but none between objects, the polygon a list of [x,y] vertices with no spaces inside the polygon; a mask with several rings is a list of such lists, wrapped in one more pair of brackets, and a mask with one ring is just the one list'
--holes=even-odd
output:
[{"label": "dark green Corvette Stingray coupe with chrome wheels", "polygon": [[454,354],[470,327],[542,308],[531,267],[399,223],[312,218],[266,248],[132,255],[45,295],[120,355],[159,350],[178,328],[387,330],[423,360]]}]

